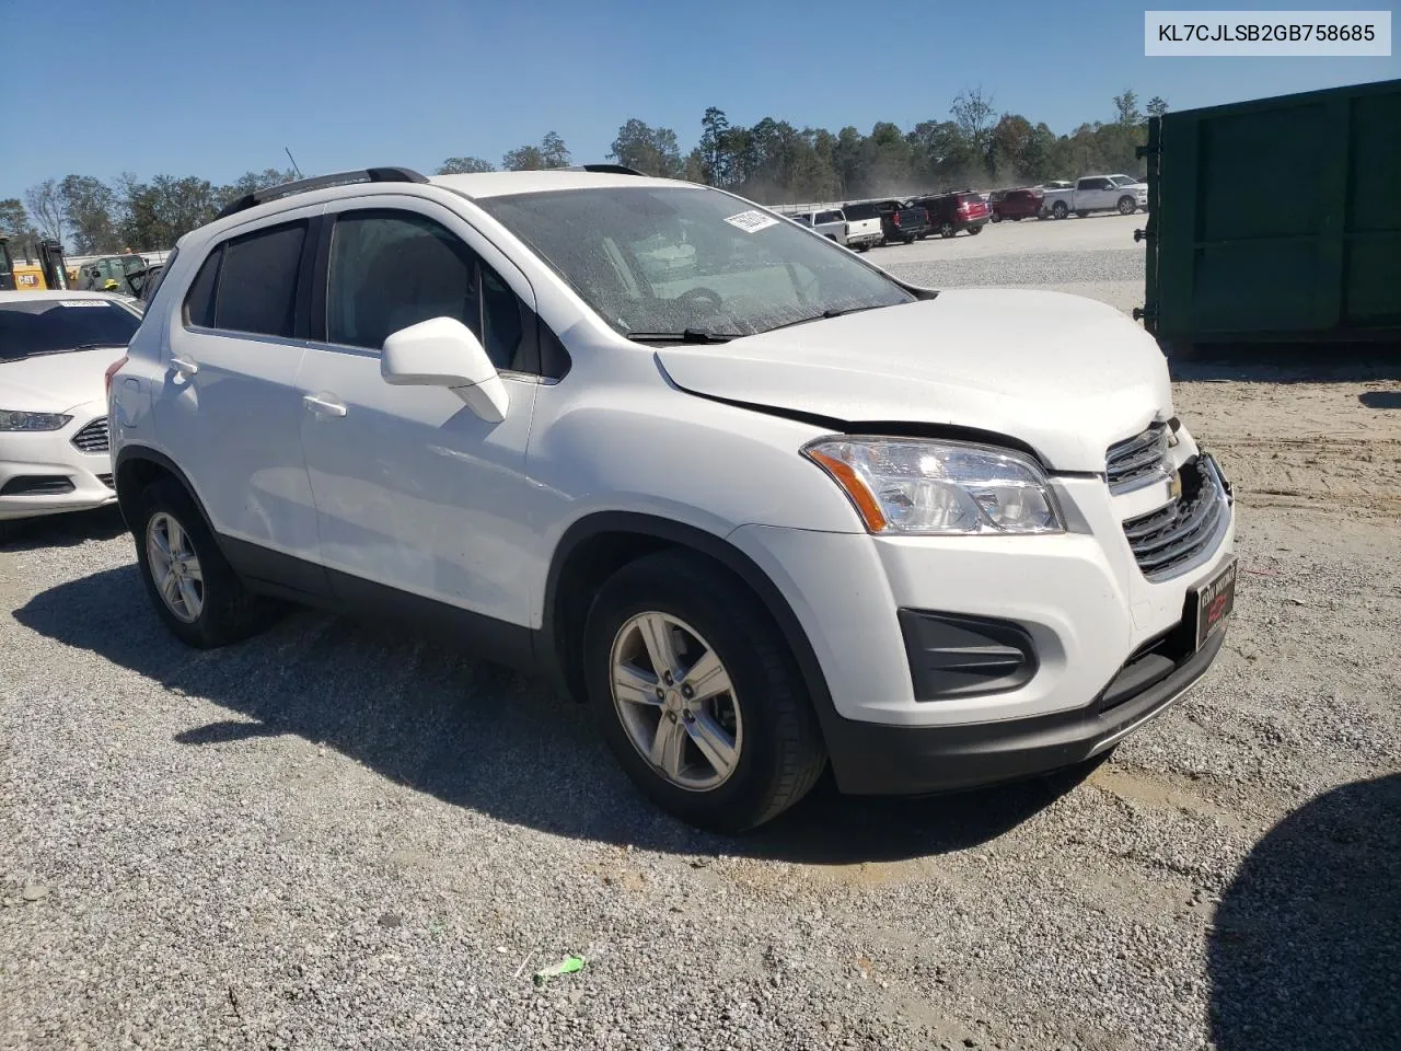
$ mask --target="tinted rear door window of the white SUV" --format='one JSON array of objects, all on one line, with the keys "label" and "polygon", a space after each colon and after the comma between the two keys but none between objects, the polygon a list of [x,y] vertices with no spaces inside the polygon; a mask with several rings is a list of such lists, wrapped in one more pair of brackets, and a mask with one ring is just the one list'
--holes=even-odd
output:
[{"label": "tinted rear door window of the white SUV", "polygon": [[287,223],[224,242],[214,328],[293,336],[297,269],[307,224]]}]

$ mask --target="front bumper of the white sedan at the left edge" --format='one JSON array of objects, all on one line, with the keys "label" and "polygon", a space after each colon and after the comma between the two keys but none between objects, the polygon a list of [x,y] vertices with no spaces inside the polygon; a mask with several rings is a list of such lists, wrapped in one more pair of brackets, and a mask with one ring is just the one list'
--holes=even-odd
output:
[{"label": "front bumper of the white sedan at the left edge", "polygon": [[74,419],[62,430],[0,433],[0,521],[90,510],[116,500],[105,427],[99,427],[101,443],[81,439],[92,451],[74,444],[85,427],[98,429],[106,406],[87,405],[70,409],[70,415]]}]

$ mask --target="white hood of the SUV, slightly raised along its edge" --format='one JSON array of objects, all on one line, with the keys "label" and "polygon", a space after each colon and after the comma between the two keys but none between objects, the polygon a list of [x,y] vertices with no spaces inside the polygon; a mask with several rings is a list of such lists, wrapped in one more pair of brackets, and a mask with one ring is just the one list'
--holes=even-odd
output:
[{"label": "white hood of the SUV, slightly raised along its edge", "polygon": [[841,423],[1020,440],[1056,471],[1173,413],[1167,359],[1119,311],[1055,291],[969,289],[717,346],[663,348],[684,391]]}]

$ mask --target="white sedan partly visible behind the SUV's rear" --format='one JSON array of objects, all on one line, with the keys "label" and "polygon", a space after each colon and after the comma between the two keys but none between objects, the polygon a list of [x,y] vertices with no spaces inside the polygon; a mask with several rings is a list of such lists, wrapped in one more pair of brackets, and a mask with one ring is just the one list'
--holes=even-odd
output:
[{"label": "white sedan partly visible behind the SUV's rear", "polygon": [[104,376],[142,315],[101,291],[0,291],[0,540],[112,503]]}]

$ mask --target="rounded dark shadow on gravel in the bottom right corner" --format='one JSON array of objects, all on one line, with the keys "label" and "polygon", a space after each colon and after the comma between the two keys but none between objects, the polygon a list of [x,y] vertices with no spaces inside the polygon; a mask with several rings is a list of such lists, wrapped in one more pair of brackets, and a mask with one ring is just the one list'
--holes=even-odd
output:
[{"label": "rounded dark shadow on gravel in the bottom right corner", "polygon": [[1255,844],[1208,966],[1220,1051],[1397,1047],[1401,775],[1334,789]]}]

